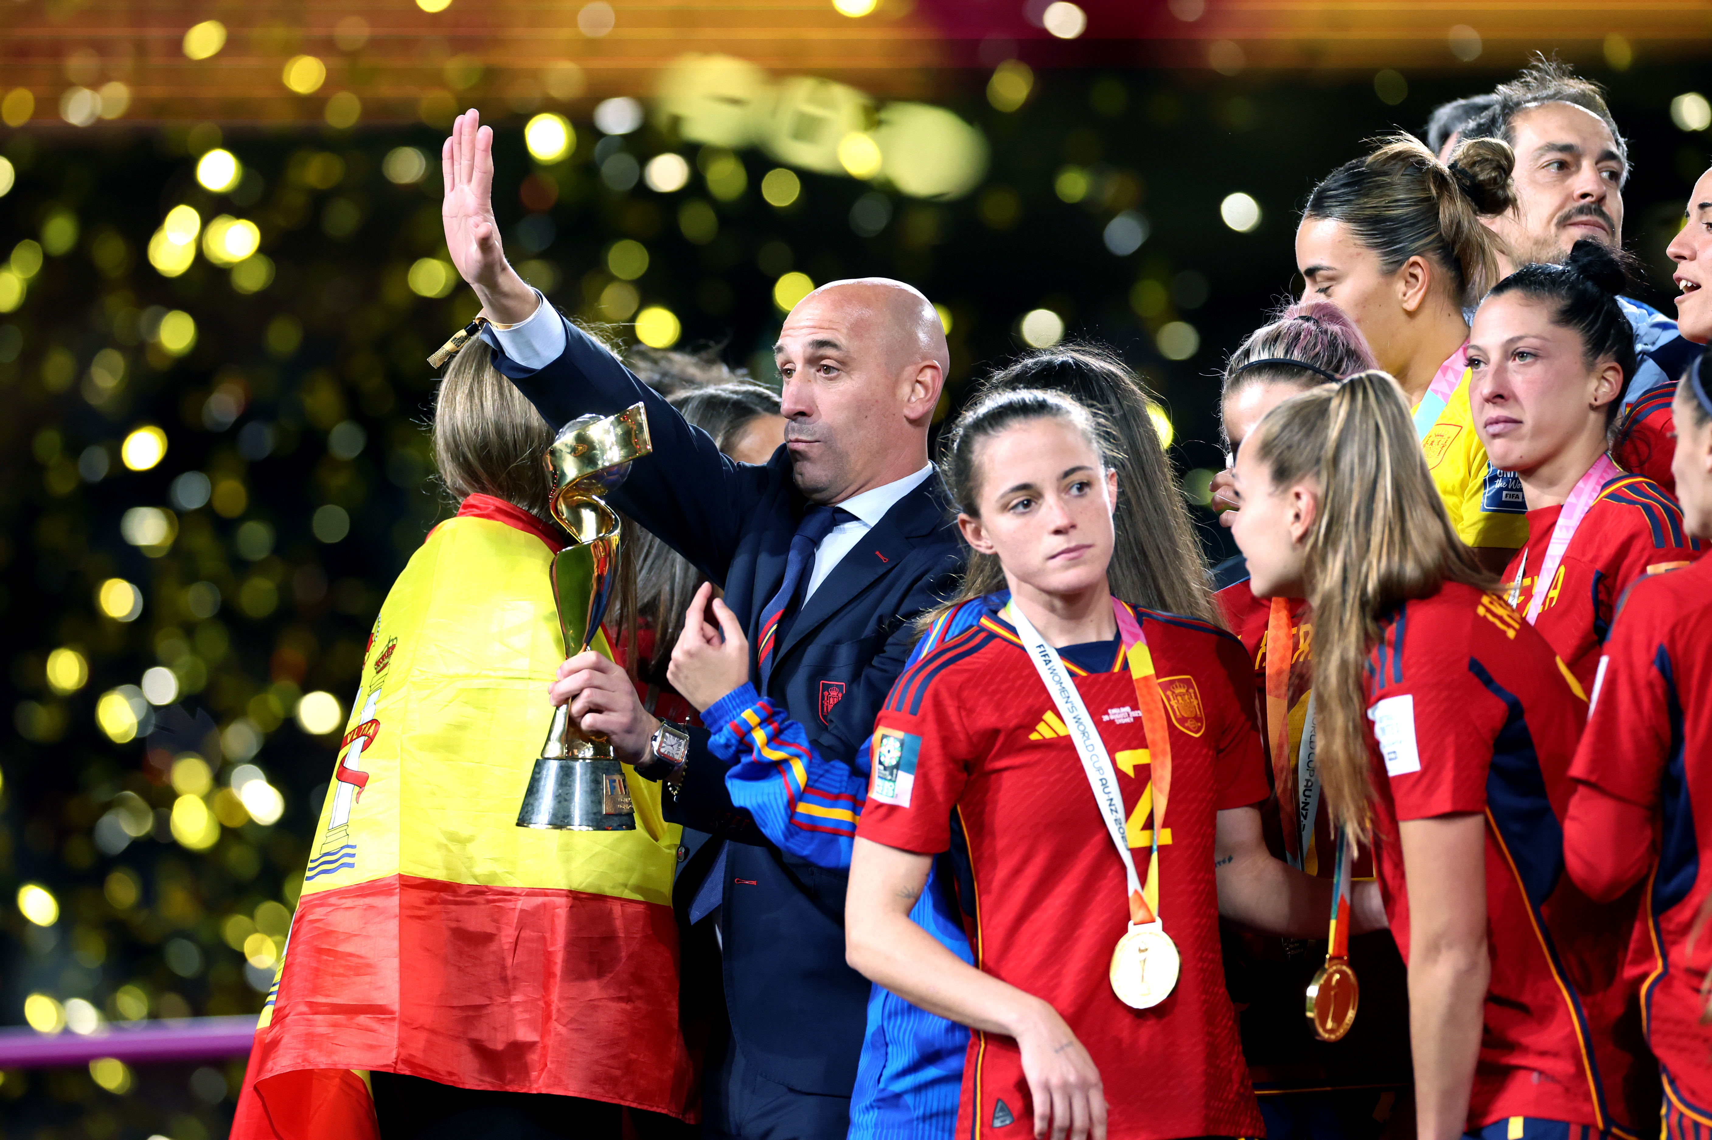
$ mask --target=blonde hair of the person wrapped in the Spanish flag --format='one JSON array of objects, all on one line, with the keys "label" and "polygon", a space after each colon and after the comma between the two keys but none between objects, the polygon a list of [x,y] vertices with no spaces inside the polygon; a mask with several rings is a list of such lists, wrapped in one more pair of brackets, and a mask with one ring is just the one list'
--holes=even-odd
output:
[{"label": "blonde hair of the person wrapped in the Spanish flag", "polygon": [[479,339],[461,347],[433,406],[433,466],[447,493],[493,495],[551,522],[541,466],[551,443],[553,428],[493,366],[493,349]]}]

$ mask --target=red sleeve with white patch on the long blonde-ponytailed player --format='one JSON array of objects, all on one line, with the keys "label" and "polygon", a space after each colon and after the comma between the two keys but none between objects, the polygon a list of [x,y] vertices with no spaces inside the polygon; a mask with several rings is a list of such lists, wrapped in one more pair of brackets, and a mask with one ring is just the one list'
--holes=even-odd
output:
[{"label": "red sleeve with white patch on the long blonde-ponytailed player", "polygon": [[1404,606],[1371,659],[1368,729],[1399,820],[1486,810],[1501,710],[1469,673],[1472,615],[1453,613]]}]

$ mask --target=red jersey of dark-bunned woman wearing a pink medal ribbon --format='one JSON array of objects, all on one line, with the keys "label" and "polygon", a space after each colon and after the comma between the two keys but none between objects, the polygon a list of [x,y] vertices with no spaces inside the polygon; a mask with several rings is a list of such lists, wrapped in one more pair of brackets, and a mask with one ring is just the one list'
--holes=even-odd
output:
[{"label": "red jersey of dark-bunned woman wearing a pink medal ribbon", "polygon": [[[1551,529],[1561,507],[1527,512],[1527,546],[1505,568],[1505,580],[1522,575],[1515,608],[1527,613],[1539,582],[1534,573],[1546,561]],[[1623,476],[1606,483],[1599,498],[1575,527],[1563,561],[1551,579],[1551,592],[1534,628],[1556,650],[1585,693],[1599,668],[1599,649],[1611,632],[1616,603],[1637,579],[1686,565],[1705,544],[1683,529],[1683,508],[1652,479]]]}]

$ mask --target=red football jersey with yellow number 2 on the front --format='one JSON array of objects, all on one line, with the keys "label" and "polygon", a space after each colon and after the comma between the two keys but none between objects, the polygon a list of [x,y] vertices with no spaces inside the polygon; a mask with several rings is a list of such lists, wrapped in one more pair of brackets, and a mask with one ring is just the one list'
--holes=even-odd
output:
[{"label": "red football jersey with yellow number 2 on the front", "polygon": [[[1202,621],[1137,609],[1171,721],[1171,799],[1159,837],[1159,916],[1176,941],[1176,989],[1150,1010],[1111,991],[1128,905],[1094,793],[1015,630],[996,616],[899,676],[875,722],[873,775],[856,834],[935,854],[955,810],[969,842],[976,965],[1051,1003],[1106,1085],[1108,1135],[1253,1137],[1262,1121],[1219,962],[1216,816],[1267,796],[1248,659]],[[1128,839],[1152,846],[1147,733],[1128,668],[1077,692],[1120,772]],[[972,905],[971,905],[972,902]],[[1015,1041],[974,1032],[960,1137],[1031,1137],[1034,1106]]]}]

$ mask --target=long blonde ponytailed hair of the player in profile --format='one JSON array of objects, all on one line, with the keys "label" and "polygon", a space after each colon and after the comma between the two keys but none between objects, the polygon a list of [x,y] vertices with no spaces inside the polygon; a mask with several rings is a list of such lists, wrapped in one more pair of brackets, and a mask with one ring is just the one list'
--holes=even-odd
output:
[{"label": "long blonde ponytailed hair of the player in profile", "polygon": [[1313,606],[1315,767],[1334,822],[1366,839],[1366,668],[1378,618],[1448,582],[1496,591],[1462,544],[1390,375],[1359,371],[1293,395],[1248,436],[1274,491],[1318,488],[1303,541]]}]

